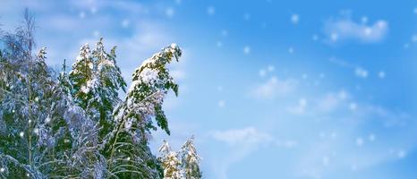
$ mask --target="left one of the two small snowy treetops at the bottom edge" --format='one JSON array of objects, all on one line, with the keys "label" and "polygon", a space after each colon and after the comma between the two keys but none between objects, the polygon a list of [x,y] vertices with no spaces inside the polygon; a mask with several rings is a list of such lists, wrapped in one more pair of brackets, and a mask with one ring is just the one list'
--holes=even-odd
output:
[{"label": "left one of the two small snowy treetops at the bottom edge", "polygon": [[181,160],[177,157],[177,153],[171,149],[167,141],[164,141],[161,148],[159,148],[159,152],[162,154],[159,160],[164,167],[164,179],[184,178]]}]

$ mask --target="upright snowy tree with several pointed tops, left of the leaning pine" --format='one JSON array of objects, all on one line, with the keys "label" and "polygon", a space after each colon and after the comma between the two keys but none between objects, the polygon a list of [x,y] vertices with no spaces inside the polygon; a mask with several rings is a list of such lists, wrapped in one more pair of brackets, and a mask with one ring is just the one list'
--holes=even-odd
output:
[{"label": "upright snowy tree with several pointed tops, left of the leaning pine", "polygon": [[100,136],[111,132],[113,128],[113,110],[121,100],[118,90],[125,91],[126,82],[115,62],[115,47],[106,53],[103,38],[90,53],[89,45],[81,47],[80,55],[72,65],[70,81],[73,85],[73,97],[89,117],[101,127]]}]

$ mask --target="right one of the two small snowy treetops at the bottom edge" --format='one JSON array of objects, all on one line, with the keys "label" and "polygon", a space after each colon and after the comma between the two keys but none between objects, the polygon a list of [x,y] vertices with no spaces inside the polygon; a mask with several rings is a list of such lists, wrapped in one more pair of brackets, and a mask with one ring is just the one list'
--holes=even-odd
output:
[{"label": "right one of the two small snowy treetops at the bottom edge", "polygon": [[178,152],[182,159],[182,168],[186,179],[200,179],[200,156],[194,147],[194,137],[188,139]]}]

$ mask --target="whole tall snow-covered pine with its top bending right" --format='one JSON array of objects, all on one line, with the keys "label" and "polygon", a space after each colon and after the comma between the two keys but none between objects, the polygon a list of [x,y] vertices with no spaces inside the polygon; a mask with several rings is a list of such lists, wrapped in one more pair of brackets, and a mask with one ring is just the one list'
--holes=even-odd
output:
[{"label": "whole tall snow-covered pine with its top bending right", "polygon": [[149,130],[157,129],[152,124],[152,119],[155,118],[157,125],[169,133],[162,103],[168,90],[178,93],[178,86],[170,76],[166,64],[172,62],[172,58],[178,60],[179,56],[181,50],[173,44],[163,48],[133,72],[127,97],[115,110],[115,130],[107,135],[106,141],[108,167],[117,176],[163,176],[157,158],[148,147]]}]

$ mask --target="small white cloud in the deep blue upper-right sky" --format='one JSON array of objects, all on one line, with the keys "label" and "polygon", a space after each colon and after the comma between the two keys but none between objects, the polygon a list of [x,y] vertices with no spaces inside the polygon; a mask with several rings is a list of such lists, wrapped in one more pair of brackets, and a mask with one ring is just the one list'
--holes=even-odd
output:
[{"label": "small white cloud in the deep blue upper-right sky", "polygon": [[[362,20],[363,21],[363,20]],[[368,20],[366,20],[368,21]],[[375,21],[373,24],[358,23],[350,18],[329,20],[324,27],[328,42],[336,43],[343,40],[357,40],[363,43],[375,43],[387,36],[388,22]]]}]

